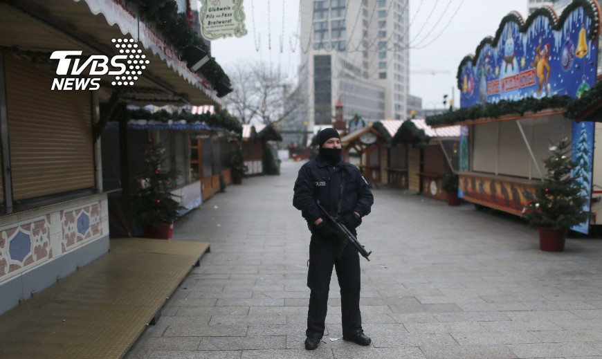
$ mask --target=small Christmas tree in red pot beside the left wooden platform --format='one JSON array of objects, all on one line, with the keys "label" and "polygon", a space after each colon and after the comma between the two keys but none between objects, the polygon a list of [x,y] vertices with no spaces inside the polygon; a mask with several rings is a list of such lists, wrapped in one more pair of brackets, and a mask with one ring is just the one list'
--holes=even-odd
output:
[{"label": "small Christmas tree in red pot beside the left wooden platform", "polygon": [[170,239],[174,221],[179,219],[180,202],[170,193],[178,172],[161,168],[165,147],[149,140],[145,152],[145,171],[136,177],[138,187],[132,196],[132,208],[145,237]]}]

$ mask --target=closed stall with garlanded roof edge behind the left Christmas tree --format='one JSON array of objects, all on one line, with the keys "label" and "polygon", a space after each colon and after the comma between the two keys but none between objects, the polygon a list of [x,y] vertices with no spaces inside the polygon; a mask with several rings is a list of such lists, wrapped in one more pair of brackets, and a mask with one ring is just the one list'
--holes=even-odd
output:
[{"label": "closed stall with garlanded roof edge behind the left Christmas tree", "polygon": [[[231,144],[240,135],[241,126],[226,111],[206,113],[165,110],[152,113],[147,109],[127,110],[127,151],[119,147],[102,147],[104,187],[111,191],[122,188],[120,178],[127,178],[129,192],[140,186],[137,178],[145,168],[145,151],[149,143],[160,145],[164,170],[174,170],[170,184],[174,198],[181,205],[181,214],[199,207],[223,186],[231,183]],[[119,142],[119,122],[109,122],[102,132],[105,143]],[[120,165],[116,165],[120,164]],[[116,203],[109,214],[130,220],[111,223],[113,237],[139,234],[128,205]],[[134,216],[135,217],[135,216]]]}]

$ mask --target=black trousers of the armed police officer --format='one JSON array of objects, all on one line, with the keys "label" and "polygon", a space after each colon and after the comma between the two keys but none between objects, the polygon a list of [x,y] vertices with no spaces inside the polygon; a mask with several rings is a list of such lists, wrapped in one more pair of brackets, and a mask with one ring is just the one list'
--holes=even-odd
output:
[{"label": "black trousers of the armed police officer", "polygon": [[322,338],[328,303],[328,291],[332,267],[336,270],[340,287],[341,317],[343,336],[348,337],[363,332],[360,313],[360,259],[358,251],[351,245],[345,246],[338,258],[340,245],[335,240],[322,239],[315,234],[309,243],[309,272],[307,286],[309,311],[307,312],[308,337]]}]

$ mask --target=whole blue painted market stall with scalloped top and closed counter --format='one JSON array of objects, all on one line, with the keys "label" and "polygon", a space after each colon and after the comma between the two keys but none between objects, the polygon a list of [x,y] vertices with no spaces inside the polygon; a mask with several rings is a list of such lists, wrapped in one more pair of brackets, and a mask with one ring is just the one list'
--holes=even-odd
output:
[{"label": "whole blue painted market stall with scalloped top and closed counter", "polygon": [[[591,198],[592,186],[602,183],[593,178],[594,123],[577,122],[565,110],[596,84],[600,28],[593,0],[574,0],[560,15],[547,6],[527,19],[511,12],[495,37],[462,60],[461,109],[427,119],[435,127],[462,124],[459,196],[520,214],[532,197],[531,183],[543,177],[549,147],[568,138],[580,163],[573,176]],[[587,232],[589,224],[573,229]]]}]

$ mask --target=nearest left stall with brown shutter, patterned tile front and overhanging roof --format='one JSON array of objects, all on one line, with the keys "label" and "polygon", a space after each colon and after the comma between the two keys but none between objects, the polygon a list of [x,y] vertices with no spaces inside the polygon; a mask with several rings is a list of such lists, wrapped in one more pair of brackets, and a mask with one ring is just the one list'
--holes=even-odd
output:
[{"label": "nearest left stall with brown shutter, patterned tile front and overhanging roof", "polygon": [[155,4],[160,17],[145,1],[0,2],[0,313],[107,253],[119,191],[102,147],[126,142],[100,135],[111,120],[126,133],[125,104],[219,104],[228,77],[191,71],[190,22]]}]

